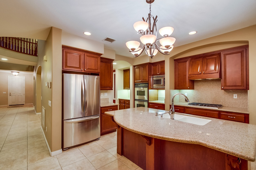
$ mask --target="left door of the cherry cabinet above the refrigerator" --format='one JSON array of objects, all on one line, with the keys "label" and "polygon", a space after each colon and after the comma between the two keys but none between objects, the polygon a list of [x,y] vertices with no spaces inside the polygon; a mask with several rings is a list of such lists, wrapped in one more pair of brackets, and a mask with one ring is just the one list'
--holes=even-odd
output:
[{"label": "left door of the cherry cabinet above the refrigerator", "polygon": [[83,71],[83,53],[74,50],[62,50],[63,69]]}]

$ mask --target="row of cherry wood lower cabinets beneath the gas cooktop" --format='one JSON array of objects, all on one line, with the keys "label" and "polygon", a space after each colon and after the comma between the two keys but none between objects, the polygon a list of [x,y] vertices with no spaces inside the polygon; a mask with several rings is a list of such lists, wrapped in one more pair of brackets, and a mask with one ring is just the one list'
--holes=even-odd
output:
[{"label": "row of cherry wood lower cabinets beneath the gas cooktop", "polygon": [[182,106],[175,106],[175,105],[174,105],[174,109],[175,109],[175,112],[179,112],[179,113],[212,117],[217,119],[225,119],[225,120],[235,121],[235,122],[249,123],[249,114],[225,112],[225,111],[219,111],[219,110],[201,109],[201,108],[193,108],[193,107],[182,107]]}]

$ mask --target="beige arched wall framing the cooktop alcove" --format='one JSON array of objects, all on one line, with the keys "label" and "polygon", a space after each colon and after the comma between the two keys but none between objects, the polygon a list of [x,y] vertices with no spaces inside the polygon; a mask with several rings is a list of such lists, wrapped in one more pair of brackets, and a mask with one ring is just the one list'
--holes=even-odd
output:
[{"label": "beige arched wall framing the cooktop alcove", "polygon": [[[249,43],[249,101],[256,102],[256,25],[221,34],[204,40],[196,41],[179,47],[175,47],[170,55],[165,56],[165,82],[166,82],[166,109],[169,109],[170,89],[174,89],[174,58],[186,57],[205,52],[240,46]],[[256,105],[249,105],[250,123],[256,124]]]}]

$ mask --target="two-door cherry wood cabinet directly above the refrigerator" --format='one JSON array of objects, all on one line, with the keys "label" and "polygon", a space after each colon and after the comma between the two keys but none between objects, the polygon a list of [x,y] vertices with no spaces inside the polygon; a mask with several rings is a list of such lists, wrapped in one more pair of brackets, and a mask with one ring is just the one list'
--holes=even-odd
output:
[{"label": "two-door cherry wood cabinet directly above the refrigerator", "polygon": [[99,73],[100,55],[90,51],[62,46],[62,70]]}]

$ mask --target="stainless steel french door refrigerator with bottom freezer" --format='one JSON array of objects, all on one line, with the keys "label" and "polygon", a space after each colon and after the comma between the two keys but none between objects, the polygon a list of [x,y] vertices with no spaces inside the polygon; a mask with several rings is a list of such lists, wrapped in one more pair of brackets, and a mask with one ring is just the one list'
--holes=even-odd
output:
[{"label": "stainless steel french door refrigerator with bottom freezer", "polygon": [[63,74],[62,149],[100,137],[100,77]]}]

